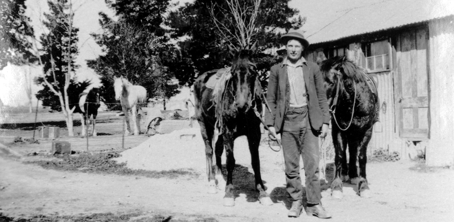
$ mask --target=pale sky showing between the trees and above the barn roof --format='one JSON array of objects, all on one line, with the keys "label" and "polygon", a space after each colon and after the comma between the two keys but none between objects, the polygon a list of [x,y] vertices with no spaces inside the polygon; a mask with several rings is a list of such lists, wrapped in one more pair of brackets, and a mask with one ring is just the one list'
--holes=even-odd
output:
[{"label": "pale sky showing between the trees and above the barn roof", "polygon": [[[383,1],[396,0],[291,0],[289,6],[298,9],[302,17],[306,17],[306,24],[302,30],[306,31],[306,36],[318,31],[319,27],[332,22],[343,10],[360,7]],[[443,0],[440,0],[443,1]],[[172,0],[172,3],[179,2],[183,5],[193,0]],[[35,29],[35,35],[39,36],[43,31],[40,20],[43,19],[42,13],[48,11],[46,0],[27,0],[26,14],[32,20]],[[81,67],[77,70],[76,75],[79,81],[85,79],[91,80],[94,85],[99,85],[99,78],[96,73],[86,65],[87,59],[95,59],[100,55],[100,47],[90,37],[90,33],[99,33],[99,12],[113,17],[113,12],[107,8],[104,0],[73,0],[75,12],[75,27],[79,28],[79,47],[80,53],[76,59],[76,63]],[[454,6],[454,4],[453,4]],[[32,78],[41,75],[42,70],[39,68],[14,67],[8,66],[0,70],[0,99],[5,105],[17,106],[26,104],[27,97],[25,95],[25,75],[31,71]],[[35,94],[39,87],[33,85],[32,91]],[[36,104],[36,99],[34,99]]]}]

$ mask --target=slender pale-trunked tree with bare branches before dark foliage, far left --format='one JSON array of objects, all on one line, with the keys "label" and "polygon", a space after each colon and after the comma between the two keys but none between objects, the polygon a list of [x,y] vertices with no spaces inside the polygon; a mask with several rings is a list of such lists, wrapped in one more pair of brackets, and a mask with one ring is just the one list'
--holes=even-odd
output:
[{"label": "slender pale-trunked tree with bare branches before dark foliage, far left", "polygon": [[[49,33],[40,37],[42,48],[39,50],[39,63],[43,66],[44,77],[38,78],[39,84],[44,84],[44,90],[50,90],[60,102],[61,110],[65,115],[69,136],[73,136],[73,111],[76,104],[70,104],[71,84],[75,84],[74,72],[78,67],[75,58],[79,53],[77,48],[78,28],[73,27],[74,11],[71,0],[49,0],[50,13],[44,13],[47,21],[43,21]],[[76,87],[77,88],[77,87]],[[48,91],[40,91],[39,98],[45,97]]]}]

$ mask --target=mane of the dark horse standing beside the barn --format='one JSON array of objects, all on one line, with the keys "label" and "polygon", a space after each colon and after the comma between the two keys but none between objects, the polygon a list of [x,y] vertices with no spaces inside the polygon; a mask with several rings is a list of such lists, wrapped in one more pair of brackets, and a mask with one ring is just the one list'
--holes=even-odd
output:
[{"label": "mane of the dark horse standing beside the barn", "polygon": [[320,70],[323,73],[323,77],[326,78],[331,69],[344,70],[343,74],[347,78],[354,80],[355,82],[365,81],[366,70],[353,63],[353,61],[347,59],[347,56],[334,56],[321,62]]}]

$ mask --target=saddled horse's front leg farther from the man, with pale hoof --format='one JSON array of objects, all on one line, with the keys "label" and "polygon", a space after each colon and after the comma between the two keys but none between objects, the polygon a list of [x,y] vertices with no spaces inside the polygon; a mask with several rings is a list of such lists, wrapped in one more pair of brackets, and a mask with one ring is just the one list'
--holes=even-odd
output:
[{"label": "saddled horse's front leg farther from the man, with pale hoof", "polygon": [[233,186],[233,170],[235,169],[235,157],[233,153],[234,149],[234,137],[232,132],[224,132],[224,147],[225,147],[225,157],[226,157],[226,168],[227,168],[227,184],[225,186],[225,195],[223,199],[224,206],[234,206],[234,186]]}]

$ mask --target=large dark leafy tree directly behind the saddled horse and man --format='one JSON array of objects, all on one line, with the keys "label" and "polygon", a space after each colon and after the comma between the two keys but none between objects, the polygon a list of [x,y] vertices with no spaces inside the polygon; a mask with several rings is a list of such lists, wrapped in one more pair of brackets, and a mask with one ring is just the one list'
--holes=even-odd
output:
[{"label": "large dark leafy tree directly behind the saddled horse and man", "polygon": [[[280,46],[280,32],[290,28],[298,29],[305,23],[305,18],[297,16],[298,10],[288,6],[290,0],[262,0],[258,7],[258,14],[255,18],[255,33],[253,38],[258,41],[257,68],[261,73],[262,86],[266,86],[266,73],[273,63],[279,58],[266,53],[267,50]],[[235,1],[234,1],[235,2]],[[242,1],[244,15],[248,18],[253,13],[255,0]],[[226,52],[226,44],[239,43],[229,41],[219,35],[219,29],[213,22],[217,20],[218,26],[225,26],[224,30],[235,32],[236,23],[234,16],[229,12],[229,5],[225,0],[196,0],[192,4],[186,4],[176,11],[169,13],[166,25],[172,28],[172,37],[179,38],[189,36],[186,40],[179,43],[181,54],[186,55],[189,60],[188,65],[194,67],[193,73],[188,80],[188,84],[194,82],[199,73],[221,68],[230,65],[229,53]],[[228,39],[235,38],[233,35]],[[181,60],[181,62],[185,62]],[[175,73],[182,73],[176,71]],[[188,79],[188,74],[177,75],[179,80]]]}]

